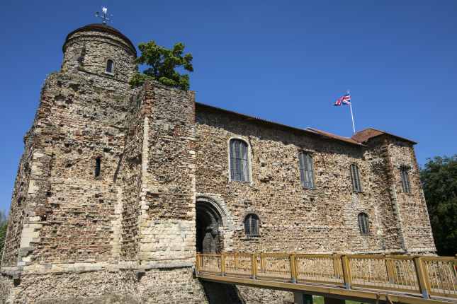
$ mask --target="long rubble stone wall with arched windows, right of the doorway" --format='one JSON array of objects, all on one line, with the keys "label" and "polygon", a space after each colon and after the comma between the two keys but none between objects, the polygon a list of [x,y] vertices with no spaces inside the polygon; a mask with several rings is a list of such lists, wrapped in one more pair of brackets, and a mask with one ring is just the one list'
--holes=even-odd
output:
[{"label": "long rubble stone wall with arched windows, right of the doorway", "polygon": [[[402,250],[400,226],[390,199],[385,174],[385,148],[363,148],[312,135],[299,135],[277,127],[259,126],[239,115],[197,107],[197,192],[213,197],[233,218],[232,240],[225,250],[298,252],[397,252]],[[229,182],[228,142],[244,139],[250,146],[252,182]],[[405,146],[405,144],[403,144]],[[397,146],[395,146],[397,147]],[[409,156],[412,147],[407,146]],[[312,153],[316,189],[300,182],[298,153]],[[397,156],[397,151],[391,151]],[[411,160],[404,160],[403,162]],[[363,192],[352,189],[349,166],[359,165]],[[400,178],[397,172],[395,178]],[[398,177],[397,177],[398,175]],[[418,172],[411,172],[418,181]],[[420,185],[414,183],[416,192]],[[423,201],[412,197],[416,209],[426,212]],[[359,232],[357,215],[369,216],[370,234]],[[244,217],[261,220],[260,236],[247,237]],[[401,211],[400,211],[401,213]],[[426,217],[414,218],[420,226]],[[224,228],[221,228],[224,231]],[[224,231],[225,232],[225,231]],[[429,230],[427,231],[429,233]],[[429,234],[428,234],[429,235]],[[417,235],[433,251],[431,239]],[[425,243],[424,243],[425,244]],[[421,245],[424,247],[424,245]],[[411,247],[417,250],[417,247]]]}]

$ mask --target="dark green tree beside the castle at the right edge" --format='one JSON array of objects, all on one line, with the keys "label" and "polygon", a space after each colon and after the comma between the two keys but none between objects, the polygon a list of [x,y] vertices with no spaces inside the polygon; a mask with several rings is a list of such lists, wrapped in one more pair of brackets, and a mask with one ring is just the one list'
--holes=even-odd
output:
[{"label": "dark green tree beside the castle at the right edge", "polygon": [[457,155],[429,159],[421,170],[431,229],[439,255],[457,253]]}]

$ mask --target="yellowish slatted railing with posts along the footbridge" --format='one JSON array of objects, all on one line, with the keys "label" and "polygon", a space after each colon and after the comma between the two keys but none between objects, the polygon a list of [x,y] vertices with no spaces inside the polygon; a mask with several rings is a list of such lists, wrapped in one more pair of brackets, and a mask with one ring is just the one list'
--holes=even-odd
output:
[{"label": "yellowish slatted railing with posts along the footbridge", "polygon": [[456,257],[308,255],[288,253],[197,254],[198,274],[291,283],[420,293],[457,298]]}]

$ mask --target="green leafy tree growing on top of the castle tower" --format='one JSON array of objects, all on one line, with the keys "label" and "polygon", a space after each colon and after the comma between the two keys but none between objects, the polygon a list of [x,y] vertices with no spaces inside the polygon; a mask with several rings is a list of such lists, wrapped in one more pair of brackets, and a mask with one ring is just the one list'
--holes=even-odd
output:
[{"label": "green leafy tree growing on top of the castle tower", "polygon": [[140,43],[138,48],[141,56],[136,59],[136,63],[145,64],[147,68],[142,73],[132,76],[131,86],[141,86],[147,79],[152,79],[173,88],[189,89],[188,74],[181,75],[176,71],[176,69],[193,71],[192,54],[184,54],[184,44],[179,42],[173,49],[167,49],[156,45],[154,41],[149,41]]}]

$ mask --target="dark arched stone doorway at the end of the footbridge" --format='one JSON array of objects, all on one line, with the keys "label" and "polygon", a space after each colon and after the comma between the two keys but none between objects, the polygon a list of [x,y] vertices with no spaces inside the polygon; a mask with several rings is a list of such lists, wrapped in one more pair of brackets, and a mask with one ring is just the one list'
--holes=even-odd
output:
[{"label": "dark arched stone doorway at the end of the footbridge", "polygon": [[222,216],[215,206],[208,201],[197,200],[197,252],[218,253],[222,251],[220,226],[222,226]]}]

